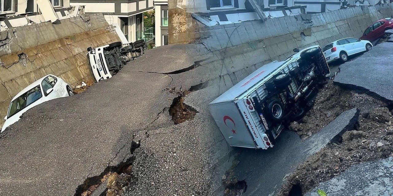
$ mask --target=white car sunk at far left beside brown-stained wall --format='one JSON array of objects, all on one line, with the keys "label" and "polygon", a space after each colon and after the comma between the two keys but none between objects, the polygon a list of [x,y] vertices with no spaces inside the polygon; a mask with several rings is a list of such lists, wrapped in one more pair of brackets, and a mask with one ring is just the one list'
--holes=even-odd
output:
[{"label": "white car sunk at far left beside brown-stained wall", "polygon": [[73,93],[70,85],[57,76],[50,74],[38,79],[20,91],[11,100],[7,116],[4,117],[6,122],[1,132],[9,125],[17,122],[20,116],[30,108],[55,98],[72,95]]}]

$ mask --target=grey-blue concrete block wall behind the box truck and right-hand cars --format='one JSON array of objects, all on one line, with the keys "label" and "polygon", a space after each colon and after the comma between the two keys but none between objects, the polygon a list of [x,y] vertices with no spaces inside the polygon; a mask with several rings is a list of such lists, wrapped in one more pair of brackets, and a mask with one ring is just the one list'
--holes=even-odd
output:
[{"label": "grey-blue concrete block wall behind the box truck and right-hand cars", "polygon": [[209,67],[211,83],[220,85],[222,94],[262,65],[285,60],[294,54],[294,48],[323,47],[341,38],[360,38],[373,22],[392,15],[393,4],[358,6],[265,22],[205,26],[196,32],[198,43],[217,56],[217,60],[204,66]]}]

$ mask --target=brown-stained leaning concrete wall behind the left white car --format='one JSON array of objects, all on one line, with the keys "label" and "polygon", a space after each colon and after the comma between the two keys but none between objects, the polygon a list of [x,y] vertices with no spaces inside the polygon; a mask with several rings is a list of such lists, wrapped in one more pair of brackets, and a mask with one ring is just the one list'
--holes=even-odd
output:
[{"label": "brown-stained leaning concrete wall behind the left white car", "polygon": [[103,15],[83,15],[0,32],[0,125],[15,94],[47,74],[70,85],[91,79],[86,49],[119,41]]}]

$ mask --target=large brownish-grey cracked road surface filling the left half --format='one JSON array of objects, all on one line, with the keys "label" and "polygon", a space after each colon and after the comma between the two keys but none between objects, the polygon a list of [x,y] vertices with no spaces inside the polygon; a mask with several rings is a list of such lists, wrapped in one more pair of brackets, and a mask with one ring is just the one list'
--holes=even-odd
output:
[{"label": "large brownish-grey cracked road surface filling the left half", "polygon": [[168,113],[178,95],[164,90],[207,80],[204,71],[159,74],[206,61],[206,53],[198,45],[158,47],[110,80],[26,112],[0,139],[0,194],[74,195],[86,178],[129,158],[130,143],[139,140],[132,169],[138,180],[128,195],[208,194],[209,159],[220,147],[213,140],[222,135],[207,115],[206,90],[186,98],[200,113],[178,125]]}]

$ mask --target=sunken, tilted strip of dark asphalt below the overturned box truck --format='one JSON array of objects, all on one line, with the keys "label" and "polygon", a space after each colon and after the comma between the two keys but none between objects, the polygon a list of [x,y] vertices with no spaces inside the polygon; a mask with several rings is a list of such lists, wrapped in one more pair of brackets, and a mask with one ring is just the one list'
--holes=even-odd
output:
[{"label": "sunken, tilted strip of dark asphalt below the overturned box truck", "polygon": [[307,140],[291,131],[283,132],[274,148],[265,151],[239,149],[240,161],[235,173],[245,180],[248,188],[243,195],[270,196],[277,194],[283,178],[308,156],[318,152],[336,135],[353,129],[358,111],[343,112],[333,122]]}]

